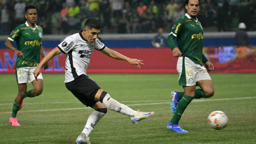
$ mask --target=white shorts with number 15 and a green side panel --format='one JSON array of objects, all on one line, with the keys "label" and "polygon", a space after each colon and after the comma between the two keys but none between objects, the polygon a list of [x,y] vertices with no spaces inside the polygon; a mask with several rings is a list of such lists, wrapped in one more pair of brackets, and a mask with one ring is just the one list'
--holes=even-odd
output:
[{"label": "white shorts with number 15 and a green side panel", "polygon": [[188,57],[178,58],[177,71],[180,74],[180,86],[194,86],[199,80],[212,80],[203,65],[194,63]]}]

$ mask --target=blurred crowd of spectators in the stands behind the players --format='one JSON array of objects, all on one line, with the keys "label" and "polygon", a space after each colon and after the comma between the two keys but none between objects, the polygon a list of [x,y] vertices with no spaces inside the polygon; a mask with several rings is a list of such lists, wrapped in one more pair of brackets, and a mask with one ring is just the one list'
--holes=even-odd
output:
[{"label": "blurred crowd of spectators in the stands behind the players", "polygon": [[[37,25],[44,34],[67,34],[81,30],[95,18],[101,33],[152,33],[162,27],[169,32],[185,14],[183,0],[0,0],[0,35],[9,35],[25,22],[24,8],[34,4]],[[256,30],[256,0],[200,0],[199,21],[205,31],[236,31],[244,22],[247,31]]]}]

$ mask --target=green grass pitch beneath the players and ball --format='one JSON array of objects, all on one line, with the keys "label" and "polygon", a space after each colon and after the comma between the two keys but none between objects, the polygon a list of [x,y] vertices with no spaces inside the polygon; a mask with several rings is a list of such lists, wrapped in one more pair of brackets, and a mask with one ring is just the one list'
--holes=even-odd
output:
[{"label": "green grass pitch beneath the players and ball", "polygon": [[[43,74],[41,96],[26,98],[12,127],[9,117],[18,93],[14,74],[0,74],[0,144],[75,144],[93,109],[69,92],[64,74]],[[134,125],[127,116],[108,110],[89,135],[92,144],[255,144],[256,74],[211,74],[215,96],[195,99],[180,124],[189,131],[166,129],[172,118],[170,92],[182,91],[178,74],[88,74],[115,100],[155,116]],[[28,84],[28,90],[32,88]],[[207,116],[215,110],[229,118],[223,130],[212,129]]]}]

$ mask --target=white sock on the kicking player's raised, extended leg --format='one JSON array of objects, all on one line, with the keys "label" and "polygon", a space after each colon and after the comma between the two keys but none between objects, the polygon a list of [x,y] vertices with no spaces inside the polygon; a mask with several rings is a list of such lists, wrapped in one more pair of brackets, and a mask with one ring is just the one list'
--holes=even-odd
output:
[{"label": "white sock on the kicking player's raised, extended leg", "polygon": [[108,109],[111,109],[115,112],[123,113],[128,117],[134,117],[137,114],[137,111],[129,108],[124,104],[120,104],[118,101],[111,98],[109,94],[106,94],[106,96],[102,100],[102,104],[105,105]]}]

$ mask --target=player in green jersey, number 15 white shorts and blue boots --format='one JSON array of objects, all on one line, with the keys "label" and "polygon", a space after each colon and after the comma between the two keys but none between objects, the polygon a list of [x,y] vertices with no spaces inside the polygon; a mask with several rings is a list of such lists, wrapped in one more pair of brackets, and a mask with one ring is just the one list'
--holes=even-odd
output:
[{"label": "player in green jersey, number 15 white shorts and blue boots", "polygon": [[[212,80],[208,71],[214,70],[214,66],[203,55],[203,28],[197,19],[200,0],[185,0],[187,13],[179,18],[172,26],[168,36],[168,44],[172,48],[177,61],[177,71],[180,75],[179,85],[184,92],[172,91],[171,109],[174,113],[167,129],[185,133],[179,125],[181,115],[194,98],[208,98],[214,95]],[[173,39],[177,39],[177,45]],[[205,68],[203,66],[205,65]],[[196,89],[199,86],[201,89]]]}]

